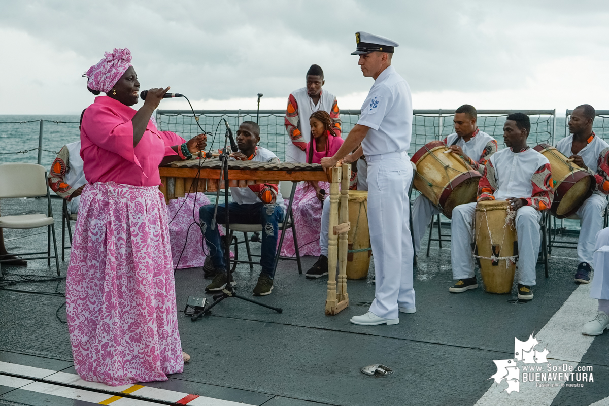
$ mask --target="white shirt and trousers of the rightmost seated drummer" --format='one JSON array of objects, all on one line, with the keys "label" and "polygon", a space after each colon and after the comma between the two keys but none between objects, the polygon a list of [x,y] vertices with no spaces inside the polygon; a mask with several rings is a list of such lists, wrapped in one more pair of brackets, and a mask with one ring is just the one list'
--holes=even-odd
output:
[{"label": "white shirt and trousers of the rightmost seated drummer", "polygon": [[[563,155],[569,157],[574,155],[571,150],[573,145],[573,135],[569,135],[558,141],[556,149]],[[583,159],[588,169],[596,173],[598,169],[598,159],[600,153],[609,147],[609,144],[595,136],[590,144],[580,150],[576,155]],[[594,268],[594,243],[596,234],[603,228],[603,211],[607,206],[607,198],[599,191],[594,192],[587,198],[582,206],[577,209],[575,215],[580,219],[579,239],[577,240],[577,264],[587,262]]]}]

